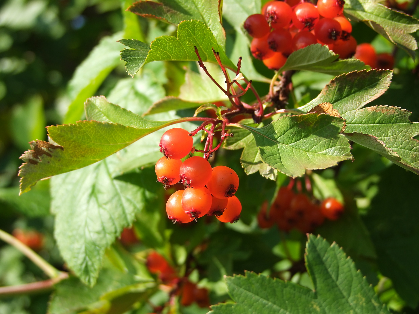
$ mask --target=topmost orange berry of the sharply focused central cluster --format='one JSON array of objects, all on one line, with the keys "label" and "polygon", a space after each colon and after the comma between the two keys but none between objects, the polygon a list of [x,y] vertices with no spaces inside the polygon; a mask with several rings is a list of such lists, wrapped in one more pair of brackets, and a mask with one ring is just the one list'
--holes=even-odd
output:
[{"label": "topmost orange berry of the sharply focused central cluster", "polygon": [[164,132],[160,139],[160,152],[165,157],[181,159],[185,157],[194,146],[194,139],[189,132],[181,128],[173,128]]}]

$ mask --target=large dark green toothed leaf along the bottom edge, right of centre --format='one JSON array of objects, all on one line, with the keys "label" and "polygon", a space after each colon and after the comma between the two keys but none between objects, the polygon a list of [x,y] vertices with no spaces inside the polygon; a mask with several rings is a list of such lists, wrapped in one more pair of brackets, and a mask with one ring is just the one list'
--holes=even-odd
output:
[{"label": "large dark green toothed leaf along the bottom edge, right of centre", "polygon": [[212,306],[213,314],[388,314],[374,290],[357,271],[351,258],[336,243],[310,234],[305,262],[314,290],[264,275],[246,272],[227,277],[228,291],[235,304]]}]

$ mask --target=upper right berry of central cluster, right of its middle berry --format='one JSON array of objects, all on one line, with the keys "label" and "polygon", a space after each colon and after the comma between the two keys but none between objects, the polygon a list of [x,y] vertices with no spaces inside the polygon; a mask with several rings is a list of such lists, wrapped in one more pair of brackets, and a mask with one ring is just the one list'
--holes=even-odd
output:
[{"label": "upper right berry of central cluster, right of its middle berry", "polygon": [[229,167],[214,167],[207,188],[216,198],[231,197],[238,189],[238,175]]}]

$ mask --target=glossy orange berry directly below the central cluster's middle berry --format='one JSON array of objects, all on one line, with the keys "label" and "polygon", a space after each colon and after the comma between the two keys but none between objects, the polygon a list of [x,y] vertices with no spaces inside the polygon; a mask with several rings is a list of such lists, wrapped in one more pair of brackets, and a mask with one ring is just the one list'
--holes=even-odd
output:
[{"label": "glossy orange berry directly below the central cluster's middle berry", "polygon": [[186,188],[182,196],[182,208],[192,219],[200,218],[211,208],[211,193],[207,188]]}]

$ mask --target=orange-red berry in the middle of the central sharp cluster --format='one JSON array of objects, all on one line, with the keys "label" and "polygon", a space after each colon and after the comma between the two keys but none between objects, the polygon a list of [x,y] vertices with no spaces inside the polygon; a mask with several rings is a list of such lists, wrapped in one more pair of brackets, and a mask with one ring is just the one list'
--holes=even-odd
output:
[{"label": "orange-red berry in the middle of the central sharp cluster", "polygon": [[203,188],[211,178],[212,168],[205,158],[193,156],[182,163],[179,174],[186,187]]}]

